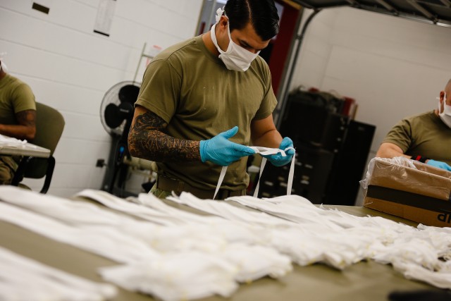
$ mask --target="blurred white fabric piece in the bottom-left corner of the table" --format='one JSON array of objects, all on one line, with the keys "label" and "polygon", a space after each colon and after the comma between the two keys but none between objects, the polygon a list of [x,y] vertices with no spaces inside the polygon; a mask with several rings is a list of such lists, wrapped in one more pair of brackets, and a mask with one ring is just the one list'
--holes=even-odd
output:
[{"label": "blurred white fabric piece in the bottom-left corner of the table", "polygon": [[117,289],[94,283],[0,247],[0,300],[101,301]]}]

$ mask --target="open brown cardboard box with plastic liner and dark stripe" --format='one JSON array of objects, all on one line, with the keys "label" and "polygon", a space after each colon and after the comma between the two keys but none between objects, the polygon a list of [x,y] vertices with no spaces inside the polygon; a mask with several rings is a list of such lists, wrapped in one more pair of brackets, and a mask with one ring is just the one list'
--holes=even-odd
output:
[{"label": "open brown cardboard box with plastic liner and dark stripe", "polygon": [[450,227],[451,173],[402,159],[371,160],[362,180],[366,184],[364,207],[428,226]]}]

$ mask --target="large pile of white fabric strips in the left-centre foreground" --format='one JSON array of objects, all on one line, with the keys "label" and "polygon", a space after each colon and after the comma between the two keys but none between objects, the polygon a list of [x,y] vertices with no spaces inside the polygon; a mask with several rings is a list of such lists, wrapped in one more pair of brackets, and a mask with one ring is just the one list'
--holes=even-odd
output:
[{"label": "large pile of white fabric strips in the left-centre foreground", "polygon": [[228,297],[238,283],[292,270],[289,257],[249,243],[260,229],[244,223],[189,214],[185,220],[106,192],[94,195],[128,214],[12,187],[0,195],[1,220],[116,261],[121,265],[99,269],[106,281],[163,300]]}]

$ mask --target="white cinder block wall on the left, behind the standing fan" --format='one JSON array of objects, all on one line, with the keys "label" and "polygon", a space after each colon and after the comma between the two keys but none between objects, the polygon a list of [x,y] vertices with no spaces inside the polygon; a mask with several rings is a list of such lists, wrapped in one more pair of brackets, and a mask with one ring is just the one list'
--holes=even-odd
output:
[{"label": "white cinder block wall on the left, behind the standing fan", "polygon": [[[164,48],[192,37],[202,0],[118,0],[109,37],[93,32],[99,0],[35,2],[49,14],[32,10],[31,0],[0,0],[0,52],[7,52],[10,73],[32,87],[37,102],[66,119],[49,193],[99,189],[105,168],[95,164],[108,159],[111,145],[99,117],[105,92],[133,80],[144,42]],[[25,180],[32,188],[42,182]]]}]

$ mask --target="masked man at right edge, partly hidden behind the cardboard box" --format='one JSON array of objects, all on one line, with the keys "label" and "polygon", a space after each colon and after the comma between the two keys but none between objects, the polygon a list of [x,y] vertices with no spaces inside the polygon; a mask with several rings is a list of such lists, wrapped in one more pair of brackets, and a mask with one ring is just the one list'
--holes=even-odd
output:
[{"label": "masked man at right edge, partly hidden behind the cardboard box", "polygon": [[402,119],[387,134],[376,156],[409,159],[451,171],[451,80],[440,91],[438,109]]}]

